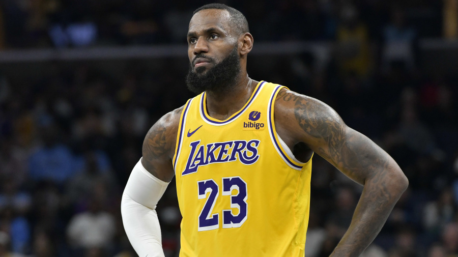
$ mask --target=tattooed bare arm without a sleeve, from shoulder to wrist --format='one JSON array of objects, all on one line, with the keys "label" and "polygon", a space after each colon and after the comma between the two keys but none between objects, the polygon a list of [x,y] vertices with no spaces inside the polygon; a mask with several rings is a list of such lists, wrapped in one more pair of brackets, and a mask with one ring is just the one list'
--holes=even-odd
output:
[{"label": "tattooed bare arm without a sleeve, from shoulder to wrist", "polygon": [[359,256],[406,190],[406,176],[385,151],[345,125],[331,107],[317,99],[282,89],[275,102],[275,124],[290,147],[304,142],[364,186],[350,227],[331,254]]}]

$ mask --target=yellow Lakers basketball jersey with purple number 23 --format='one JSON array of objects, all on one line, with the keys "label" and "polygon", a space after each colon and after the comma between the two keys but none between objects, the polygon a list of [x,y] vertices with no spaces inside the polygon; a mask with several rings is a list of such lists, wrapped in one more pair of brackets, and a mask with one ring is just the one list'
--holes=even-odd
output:
[{"label": "yellow Lakers basketball jersey with purple number 23", "polygon": [[208,115],[205,92],[186,103],[173,160],[180,257],[304,256],[311,159],[296,160],[275,131],[281,88],[261,81],[224,121]]}]

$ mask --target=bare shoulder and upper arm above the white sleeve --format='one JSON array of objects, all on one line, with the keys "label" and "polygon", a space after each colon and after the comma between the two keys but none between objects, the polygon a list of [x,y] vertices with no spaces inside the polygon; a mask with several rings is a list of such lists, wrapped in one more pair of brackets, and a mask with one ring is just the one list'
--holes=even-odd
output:
[{"label": "bare shoulder and upper arm above the white sleeve", "polygon": [[[162,116],[148,131],[143,141],[141,164],[155,177],[170,181],[171,159],[175,154],[178,127],[184,106]],[[168,170],[168,172],[167,172]],[[164,174],[165,172],[165,174]]]}]

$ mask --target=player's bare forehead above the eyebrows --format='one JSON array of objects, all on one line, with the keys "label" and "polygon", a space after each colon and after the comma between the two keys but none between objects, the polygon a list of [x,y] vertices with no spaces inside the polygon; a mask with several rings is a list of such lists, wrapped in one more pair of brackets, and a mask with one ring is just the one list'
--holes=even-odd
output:
[{"label": "player's bare forehead above the eyebrows", "polygon": [[231,14],[226,10],[205,9],[197,12],[189,22],[188,32],[205,30],[207,27],[217,26],[222,30],[230,31]]}]

